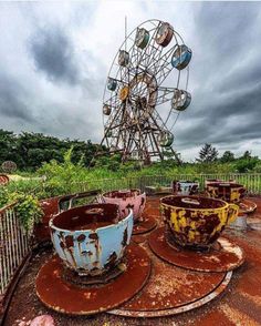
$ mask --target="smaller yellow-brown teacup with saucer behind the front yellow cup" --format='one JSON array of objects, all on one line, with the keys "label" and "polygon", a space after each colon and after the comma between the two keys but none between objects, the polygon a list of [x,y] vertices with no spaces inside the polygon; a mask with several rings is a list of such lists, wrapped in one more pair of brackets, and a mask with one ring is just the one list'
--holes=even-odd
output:
[{"label": "smaller yellow-brown teacup with saucer behind the front yellow cup", "polygon": [[[206,191],[210,197],[220,198],[229,203],[239,205],[239,216],[246,216],[255,211],[257,204],[246,200],[247,189],[242,184],[234,181],[210,182],[206,186]],[[247,225],[247,222],[244,223]]]}]

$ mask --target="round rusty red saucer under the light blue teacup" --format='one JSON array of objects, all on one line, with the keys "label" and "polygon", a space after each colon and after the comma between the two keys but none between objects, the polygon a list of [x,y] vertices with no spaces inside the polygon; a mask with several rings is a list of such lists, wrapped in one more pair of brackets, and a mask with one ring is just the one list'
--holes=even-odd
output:
[{"label": "round rusty red saucer under the light blue teacup", "polygon": [[64,279],[63,264],[55,255],[38,274],[38,297],[45,306],[69,315],[93,315],[112,309],[138,293],[150,274],[150,259],[138,245],[128,246],[125,264],[126,271],[111,282],[76,285]]}]

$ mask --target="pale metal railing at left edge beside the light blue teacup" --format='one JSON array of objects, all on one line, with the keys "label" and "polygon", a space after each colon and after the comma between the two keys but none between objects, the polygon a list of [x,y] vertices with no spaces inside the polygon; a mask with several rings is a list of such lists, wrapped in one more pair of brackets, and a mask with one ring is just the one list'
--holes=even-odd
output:
[{"label": "pale metal railing at left edge beside the light blue teacup", "polygon": [[17,218],[14,205],[0,208],[0,296],[31,252],[29,236]]}]

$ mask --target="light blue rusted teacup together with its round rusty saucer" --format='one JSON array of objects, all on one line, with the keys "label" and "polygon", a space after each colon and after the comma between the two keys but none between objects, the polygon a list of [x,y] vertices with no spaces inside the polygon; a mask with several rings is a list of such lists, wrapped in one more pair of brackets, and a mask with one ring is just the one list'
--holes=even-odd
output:
[{"label": "light blue rusted teacup together with its round rusty saucer", "polygon": [[[70,315],[91,315],[119,306],[146,284],[150,259],[129,244],[133,211],[95,203],[50,220],[55,255],[40,269],[41,302]],[[132,282],[129,282],[132,279]]]}]

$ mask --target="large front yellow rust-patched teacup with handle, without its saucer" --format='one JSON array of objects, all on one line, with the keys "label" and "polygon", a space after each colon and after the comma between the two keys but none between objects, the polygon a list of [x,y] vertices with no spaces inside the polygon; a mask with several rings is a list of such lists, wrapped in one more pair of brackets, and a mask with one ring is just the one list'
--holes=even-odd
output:
[{"label": "large front yellow rust-patched teacup with handle, without its saucer", "polygon": [[164,221],[181,246],[206,247],[238,216],[239,206],[200,196],[167,196],[160,200]]}]

